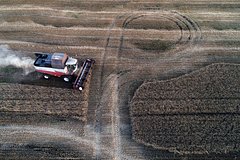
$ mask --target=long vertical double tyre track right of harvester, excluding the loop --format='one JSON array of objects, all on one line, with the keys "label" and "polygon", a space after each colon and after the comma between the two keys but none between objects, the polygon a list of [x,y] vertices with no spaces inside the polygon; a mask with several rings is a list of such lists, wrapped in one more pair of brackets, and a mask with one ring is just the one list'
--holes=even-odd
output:
[{"label": "long vertical double tyre track right of harvester, excluding the loop", "polygon": [[[109,155],[111,155],[112,159],[132,159],[127,155],[122,153],[122,144],[121,144],[121,116],[119,115],[119,105],[118,105],[118,62],[119,62],[119,54],[121,47],[113,48],[110,46],[111,43],[111,30],[116,26],[117,21],[122,21],[123,18],[128,16],[128,13],[124,13],[118,15],[109,26],[106,36],[105,49],[102,52],[101,56],[101,64],[100,64],[100,94],[98,99],[98,105],[96,109],[96,124],[95,124],[95,132],[98,133],[95,137],[96,140],[96,159],[104,158],[104,153],[106,153],[106,148],[110,148],[111,151],[108,151]],[[131,17],[131,16],[130,16]],[[129,17],[129,18],[130,18]],[[127,19],[125,20],[127,21]],[[122,31],[119,33],[120,41],[119,46],[122,46]],[[111,53],[110,53],[111,52]],[[109,57],[109,54],[111,57]],[[109,64],[108,58],[114,58],[116,61],[110,62]],[[111,71],[109,71],[109,75],[106,75],[105,69],[111,66]],[[107,98],[106,98],[107,97]],[[106,111],[108,113],[106,113]],[[108,120],[109,122],[106,122]],[[107,128],[107,129],[106,129]],[[108,143],[106,143],[106,137],[108,137]],[[105,142],[104,142],[105,141]],[[126,158],[127,157],[127,158]],[[110,157],[108,157],[111,159]]]}]

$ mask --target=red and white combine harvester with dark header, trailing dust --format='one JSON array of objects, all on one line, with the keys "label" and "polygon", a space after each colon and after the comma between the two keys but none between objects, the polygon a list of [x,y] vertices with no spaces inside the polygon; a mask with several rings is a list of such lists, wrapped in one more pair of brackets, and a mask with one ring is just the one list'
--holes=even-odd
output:
[{"label": "red and white combine harvester with dark header, trailing dust", "polygon": [[61,77],[65,82],[73,82],[73,88],[82,91],[89,79],[93,64],[92,59],[86,59],[80,67],[78,60],[66,53],[35,53],[34,68],[43,73],[45,79],[51,76]]}]

